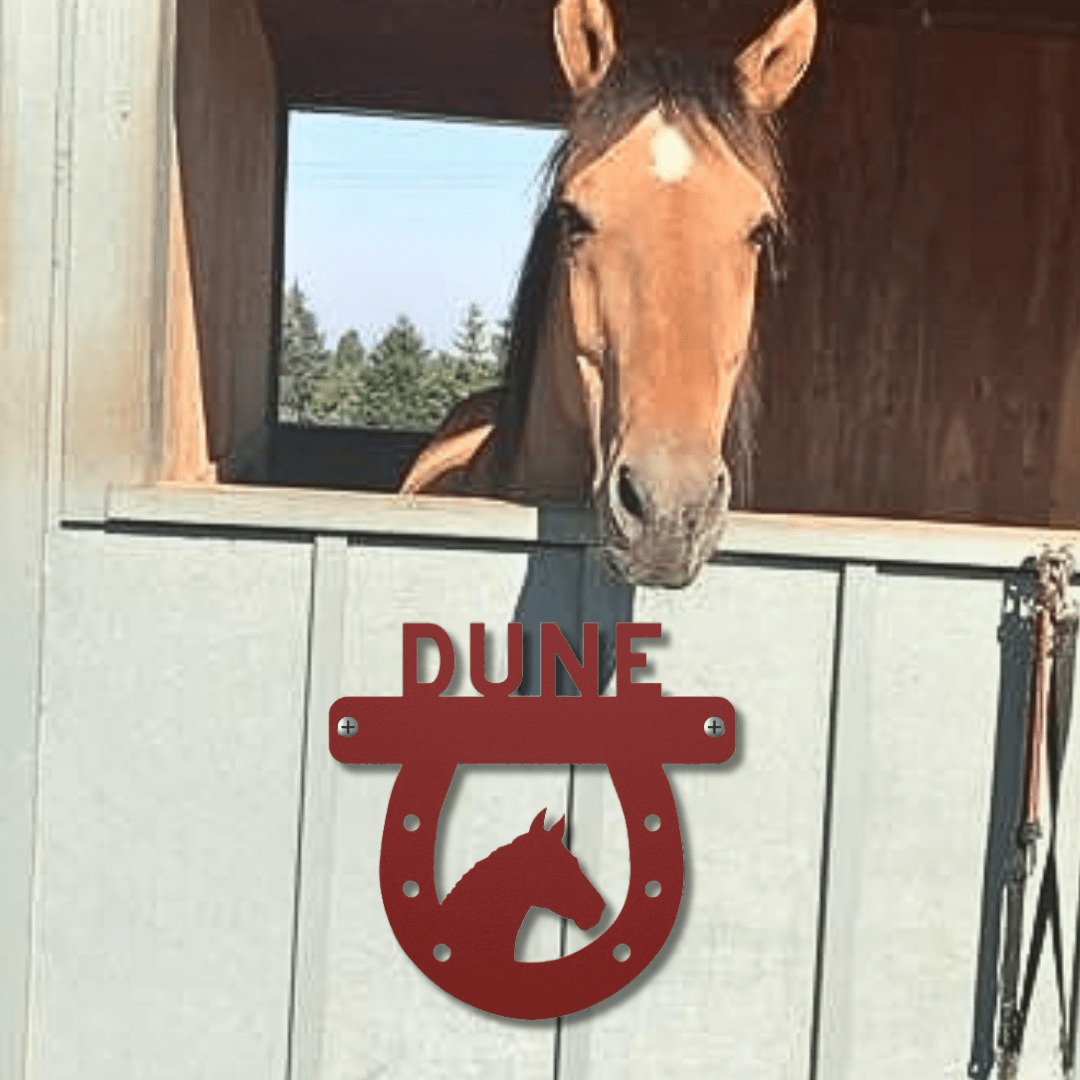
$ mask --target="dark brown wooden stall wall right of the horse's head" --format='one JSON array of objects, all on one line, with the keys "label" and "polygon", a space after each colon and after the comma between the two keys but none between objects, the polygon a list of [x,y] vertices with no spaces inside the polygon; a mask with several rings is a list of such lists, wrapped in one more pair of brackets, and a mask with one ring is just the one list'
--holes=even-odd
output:
[{"label": "dark brown wooden stall wall right of the horse's head", "polygon": [[819,64],[751,504],[1080,523],[1080,39],[833,26]]}]

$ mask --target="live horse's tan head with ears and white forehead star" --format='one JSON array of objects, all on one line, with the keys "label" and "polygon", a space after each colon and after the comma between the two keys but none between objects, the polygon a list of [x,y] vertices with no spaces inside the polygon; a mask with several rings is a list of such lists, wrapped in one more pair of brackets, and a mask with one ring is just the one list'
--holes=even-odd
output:
[{"label": "live horse's tan head with ears and white forehead star", "polygon": [[[553,191],[577,383],[566,396],[581,403],[607,553],[643,584],[686,584],[724,526],[725,431],[759,262],[783,221],[770,118],[815,28],[813,0],[801,0],[735,57],[726,94],[692,57],[620,65],[606,0],[555,10],[577,100]],[[612,140],[604,98],[635,82],[658,104]]]}]

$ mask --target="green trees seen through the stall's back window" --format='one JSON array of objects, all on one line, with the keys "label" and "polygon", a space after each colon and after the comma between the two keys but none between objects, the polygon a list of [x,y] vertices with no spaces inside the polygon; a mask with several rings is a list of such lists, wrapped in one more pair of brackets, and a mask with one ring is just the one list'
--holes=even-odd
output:
[{"label": "green trees seen through the stall's back window", "polygon": [[365,352],[347,330],[333,353],[318,320],[294,284],[282,325],[281,419],[429,431],[469,394],[494,386],[501,369],[505,323],[489,334],[478,305],[470,305],[453,353],[433,353],[401,315]]}]

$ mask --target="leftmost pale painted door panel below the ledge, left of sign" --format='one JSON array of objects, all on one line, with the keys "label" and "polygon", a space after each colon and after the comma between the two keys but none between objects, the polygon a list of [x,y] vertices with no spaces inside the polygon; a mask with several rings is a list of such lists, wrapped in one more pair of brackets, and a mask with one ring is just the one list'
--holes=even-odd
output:
[{"label": "leftmost pale painted door panel below the ledge, left of sign", "polygon": [[56,532],[29,1076],[284,1080],[309,549]]}]

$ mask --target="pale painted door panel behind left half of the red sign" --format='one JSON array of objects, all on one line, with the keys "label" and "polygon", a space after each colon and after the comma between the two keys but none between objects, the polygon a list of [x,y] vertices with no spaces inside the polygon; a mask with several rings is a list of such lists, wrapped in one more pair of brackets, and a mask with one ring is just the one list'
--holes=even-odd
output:
[{"label": "pale painted door panel behind left half of the red sign", "polygon": [[[485,622],[491,645],[511,621],[525,577],[524,553],[363,546],[351,550],[342,691],[399,694],[402,623],[435,622],[459,647],[459,692],[472,692],[469,623]],[[489,673],[504,671],[495,648]],[[394,939],[379,892],[382,821],[394,768],[335,766],[335,823],[326,933],[326,1011],[320,1080],[514,1078],[550,1080],[554,1024],[480,1013],[448,997],[413,966]],[[568,770],[462,769],[440,823],[445,892],[476,860],[524,833],[535,814],[565,811]],[[519,956],[558,955],[558,924],[538,921]]]}]

